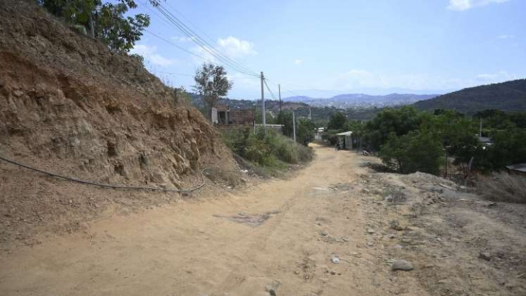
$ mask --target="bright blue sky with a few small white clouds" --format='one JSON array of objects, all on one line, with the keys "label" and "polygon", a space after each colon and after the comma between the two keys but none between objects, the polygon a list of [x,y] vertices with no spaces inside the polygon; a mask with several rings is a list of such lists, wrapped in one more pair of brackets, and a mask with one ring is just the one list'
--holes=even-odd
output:
[{"label": "bright blue sky with a few small white clouds", "polygon": [[[443,93],[526,78],[525,0],[168,0],[163,5],[234,61],[263,71],[276,95],[282,84],[282,97]],[[132,12],[150,14],[149,30],[156,35],[213,59],[144,5]],[[145,57],[152,73],[187,90],[203,62],[149,33],[134,52]],[[258,79],[227,71],[234,82],[229,97],[260,97]]]}]

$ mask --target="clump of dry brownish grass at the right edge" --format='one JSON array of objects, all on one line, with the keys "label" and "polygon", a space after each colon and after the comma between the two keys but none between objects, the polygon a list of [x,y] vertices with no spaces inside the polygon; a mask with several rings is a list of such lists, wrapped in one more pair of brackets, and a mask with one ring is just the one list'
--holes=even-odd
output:
[{"label": "clump of dry brownish grass at the right edge", "polygon": [[477,182],[477,191],[485,199],[526,204],[526,177],[505,172],[493,173]]}]

